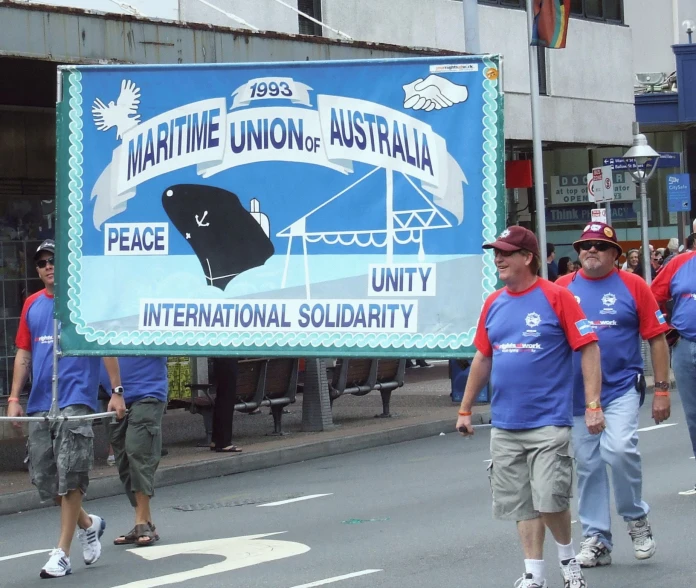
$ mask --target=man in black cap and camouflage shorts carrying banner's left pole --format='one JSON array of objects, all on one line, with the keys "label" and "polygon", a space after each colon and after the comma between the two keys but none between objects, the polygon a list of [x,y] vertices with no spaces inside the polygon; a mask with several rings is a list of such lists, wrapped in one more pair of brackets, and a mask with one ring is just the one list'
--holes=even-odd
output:
[{"label": "man in black cap and camouflage shorts carrying banner's left pole", "polygon": [[[7,416],[21,417],[20,394],[31,372],[32,386],[27,414],[46,416],[51,408],[53,375],[53,291],[54,254],[52,239],[36,250],[34,263],[45,288],[27,298],[17,331],[17,355]],[[63,416],[84,416],[97,410],[99,357],[62,357],[58,362],[58,408]],[[123,388],[118,363],[104,358],[114,394],[109,410],[118,418],[125,415]],[[19,426],[19,423],[15,423]],[[42,501],[54,500],[61,509],[58,545],[41,569],[42,578],[59,578],[72,573],[70,545],[77,528],[85,564],[101,555],[99,538],[106,524],[101,517],[82,508],[94,459],[94,433],[90,421],[42,421],[29,425],[28,461],[32,483]]]}]

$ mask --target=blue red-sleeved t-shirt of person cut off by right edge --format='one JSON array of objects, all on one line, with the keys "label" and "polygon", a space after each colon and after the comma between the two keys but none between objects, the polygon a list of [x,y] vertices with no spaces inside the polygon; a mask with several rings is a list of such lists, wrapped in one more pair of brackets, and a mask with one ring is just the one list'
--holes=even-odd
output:
[{"label": "blue red-sleeved t-shirt of person cut off by right edge", "polygon": [[689,341],[696,341],[696,251],[681,253],[664,266],[652,291],[660,304],[674,301],[671,325]]}]

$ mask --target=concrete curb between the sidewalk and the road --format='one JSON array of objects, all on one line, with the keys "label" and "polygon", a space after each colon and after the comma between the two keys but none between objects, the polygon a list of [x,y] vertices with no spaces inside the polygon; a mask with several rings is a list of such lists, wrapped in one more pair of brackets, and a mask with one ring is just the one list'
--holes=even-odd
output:
[{"label": "concrete curb between the sidewalk and the road", "polygon": [[[473,415],[474,424],[490,423],[490,408]],[[386,431],[374,431],[335,439],[313,441],[292,447],[280,447],[254,453],[241,453],[228,459],[201,460],[158,470],[155,487],[164,488],[186,482],[198,482],[209,478],[220,478],[273,468],[320,457],[330,457],[363,449],[372,449],[405,441],[416,441],[450,431],[452,419],[440,419],[430,423],[405,425]],[[86,501],[110,498],[123,494],[123,486],[118,476],[108,476],[90,480]],[[0,515],[17,514],[28,510],[53,506],[51,502],[41,503],[35,490],[25,490],[0,498]]]}]

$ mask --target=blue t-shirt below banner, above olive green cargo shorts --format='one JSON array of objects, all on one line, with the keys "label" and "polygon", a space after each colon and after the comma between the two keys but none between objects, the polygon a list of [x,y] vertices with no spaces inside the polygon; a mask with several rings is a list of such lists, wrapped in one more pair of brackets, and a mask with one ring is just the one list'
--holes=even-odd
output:
[{"label": "blue t-shirt below banner, above olive green cargo shorts", "polygon": [[[123,400],[129,406],[143,398],[167,401],[169,380],[167,379],[166,357],[119,357]],[[101,362],[100,383],[111,395],[111,380]]]}]

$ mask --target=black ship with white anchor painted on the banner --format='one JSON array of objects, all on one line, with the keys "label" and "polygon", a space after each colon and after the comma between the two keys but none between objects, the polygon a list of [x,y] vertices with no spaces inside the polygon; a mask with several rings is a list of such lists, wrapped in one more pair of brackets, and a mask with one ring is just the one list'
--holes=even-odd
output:
[{"label": "black ship with white anchor painted on the banner", "polygon": [[162,194],[172,224],[198,257],[207,284],[224,290],[242,272],[260,267],[275,249],[252,201],[252,212],[236,194],[198,184],[177,184]]}]

